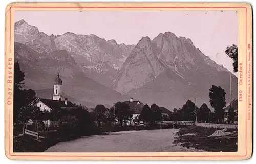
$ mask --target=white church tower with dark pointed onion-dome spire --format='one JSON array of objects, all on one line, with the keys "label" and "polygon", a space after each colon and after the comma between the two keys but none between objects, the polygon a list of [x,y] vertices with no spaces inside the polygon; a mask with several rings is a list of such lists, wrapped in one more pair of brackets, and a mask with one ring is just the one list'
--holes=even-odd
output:
[{"label": "white church tower with dark pointed onion-dome spire", "polygon": [[63,100],[62,96],[62,80],[59,77],[59,71],[57,73],[57,76],[54,80],[54,85],[53,85],[53,100]]}]

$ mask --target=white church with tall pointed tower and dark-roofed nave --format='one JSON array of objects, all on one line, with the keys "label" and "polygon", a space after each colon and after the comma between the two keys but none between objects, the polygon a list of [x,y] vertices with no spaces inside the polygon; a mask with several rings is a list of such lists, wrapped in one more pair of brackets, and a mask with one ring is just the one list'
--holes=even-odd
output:
[{"label": "white church with tall pointed tower and dark-roofed nave", "polygon": [[[49,111],[51,112],[54,109],[66,109],[71,110],[75,107],[75,105],[68,101],[67,98],[63,99],[62,95],[62,80],[59,77],[59,72],[53,83],[53,97],[52,99],[42,99],[36,98],[33,102],[29,104],[34,105],[36,104],[37,107],[40,108],[41,111]],[[44,121],[46,126],[51,126],[52,122],[50,120]]]}]

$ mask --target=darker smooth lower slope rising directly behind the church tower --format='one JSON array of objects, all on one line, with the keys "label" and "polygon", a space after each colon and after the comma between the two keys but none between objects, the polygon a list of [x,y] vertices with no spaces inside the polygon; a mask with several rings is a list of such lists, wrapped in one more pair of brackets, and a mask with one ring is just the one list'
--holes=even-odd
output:
[{"label": "darker smooth lower slope rising directly behind the church tower", "polygon": [[[88,78],[64,50],[57,50],[48,56],[37,53],[29,46],[15,42],[15,61],[25,72],[25,85],[34,90],[53,87],[53,80],[59,70],[63,81],[63,92],[79,102],[106,104],[112,106],[118,100],[129,97]],[[58,54],[61,54],[58,56]],[[66,55],[65,55],[66,54]],[[52,91],[51,91],[52,92]],[[85,105],[85,104],[84,104]],[[88,107],[95,107],[88,105]]]}]

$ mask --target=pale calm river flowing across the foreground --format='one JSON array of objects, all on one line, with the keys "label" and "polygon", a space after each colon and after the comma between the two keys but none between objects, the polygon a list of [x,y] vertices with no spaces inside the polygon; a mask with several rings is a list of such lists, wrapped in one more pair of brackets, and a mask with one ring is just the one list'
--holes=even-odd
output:
[{"label": "pale calm river flowing across the foreground", "polygon": [[60,142],[46,152],[195,152],[173,144],[177,129],[113,132]]}]

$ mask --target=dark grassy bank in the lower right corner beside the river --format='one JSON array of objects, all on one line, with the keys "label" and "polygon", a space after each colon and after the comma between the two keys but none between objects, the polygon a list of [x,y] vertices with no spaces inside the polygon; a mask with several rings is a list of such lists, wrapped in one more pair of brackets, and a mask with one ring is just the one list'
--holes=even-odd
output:
[{"label": "dark grassy bank in the lower right corner beside the river", "polygon": [[176,134],[173,143],[183,147],[195,148],[210,152],[236,152],[237,151],[237,131],[227,129],[227,132],[234,132],[228,136],[210,136],[216,128],[197,127],[195,125],[180,129]]}]

